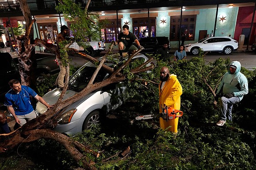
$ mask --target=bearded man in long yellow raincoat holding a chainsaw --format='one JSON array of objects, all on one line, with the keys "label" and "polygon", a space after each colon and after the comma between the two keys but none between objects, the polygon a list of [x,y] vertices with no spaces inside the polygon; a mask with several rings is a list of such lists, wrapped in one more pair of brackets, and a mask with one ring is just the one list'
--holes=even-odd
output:
[{"label": "bearded man in long yellow raincoat holding a chainsaw", "polygon": [[[167,67],[162,67],[160,70],[160,83],[159,83],[159,112],[162,113],[162,108],[173,107],[174,109],[180,110],[181,108],[181,94],[182,87],[174,74],[169,74]],[[177,133],[179,118],[173,120],[164,120],[160,118],[160,128],[166,129]]]}]

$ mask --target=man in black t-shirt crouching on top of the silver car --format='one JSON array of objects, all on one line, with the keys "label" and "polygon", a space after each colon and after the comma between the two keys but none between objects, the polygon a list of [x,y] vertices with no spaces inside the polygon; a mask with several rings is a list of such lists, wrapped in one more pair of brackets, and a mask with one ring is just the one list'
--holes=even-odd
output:
[{"label": "man in black t-shirt crouching on top of the silver car", "polygon": [[119,33],[117,42],[115,42],[115,45],[118,44],[120,60],[123,59],[123,52],[128,52],[128,51],[133,51],[138,49],[134,45],[132,45],[133,42],[135,42],[135,44],[139,47],[139,49],[144,49],[143,46],[139,44],[139,41],[137,40],[135,35],[129,31],[129,26],[124,25],[123,32]]}]

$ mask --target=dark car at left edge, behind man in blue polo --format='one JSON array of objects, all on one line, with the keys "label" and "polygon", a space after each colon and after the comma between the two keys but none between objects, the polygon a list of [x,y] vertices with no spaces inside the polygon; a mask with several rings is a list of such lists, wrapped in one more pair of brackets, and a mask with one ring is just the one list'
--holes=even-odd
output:
[{"label": "dark car at left edge, behind man in blue polo", "polygon": [[0,105],[4,104],[4,96],[10,90],[11,79],[20,81],[19,69],[8,52],[0,52]]}]

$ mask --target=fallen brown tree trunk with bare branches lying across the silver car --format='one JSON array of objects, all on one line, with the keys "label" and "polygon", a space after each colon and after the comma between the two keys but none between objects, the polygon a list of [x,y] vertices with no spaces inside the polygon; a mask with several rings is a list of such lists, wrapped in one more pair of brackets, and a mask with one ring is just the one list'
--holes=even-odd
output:
[{"label": "fallen brown tree trunk with bare branches lying across the silver car", "polygon": [[[112,45],[113,46],[113,45]],[[112,49],[112,46],[110,47],[110,51]],[[109,52],[110,52],[109,51]],[[54,127],[57,125],[57,119],[61,115],[61,110],[64,107],[67,107],[68,105],[74,103],[75,101],[83,98],[90,92],[93,92],[96,89],[100,89],[106,85],[110,85],[112,83],[121,82],[124,80],[127,80],[127,76],[125,74],[122,74],[121,71],[124,70],[124,68],[128,65],[128,63],[131,62],[132,58],[138,54],[141,50],[137,50],[134,52],[117,70],[113,70],[112,68],[106,66],[104,64],[105,59],[108,55],[108,53],[102,58],[101,61],[98,61],[97,59],[94,59],[90,57],[89,55],[85,55],[82,53],[78,53],[77,55],[81,55],[87,60],[91,61],[92,63],[99,63],[97,69],[95,70],[89,84],[85,89],[83,89],[81,92],[77,93],[76,95],[66,99],[62,100],[63,96],[68,88],[68,84],[66,83],[64,86],[63,91],[61,92],[59,100],[54,105],[53,109],[50,109],[45,112],[45,114],[39,116],[38,118],[35,118],[31,120],[30,122],[27,122],[24,126],[17,129],[15,132],[10,133],[9,135],[2,135],[1,138],[6,139],[4,142],[0,144],[0,147],[4,147],[7,149],[14,148],[15,146],[21,144],[21,143],[27,143],[34,140],[38,140],[40,138],[45,139],[53,139],[61,144],[64,145],[64,147],[68,150],[68,152],[72,155],[72,157],[78,161],[82,162],[83,166],[87,169],[95,169],[94,163],[92,161],[87,162],[84,158],[83,152],[91,152],[95,156],[99,156],[97,152],[91,151],[86,146],[79,144],[76,141],[72,141],[69,139],[69,137],[52,131]],[[141,64],[139,67],[136,67],[135,69],[130,70],[130,73],[132,74],[139,74],[142,72],[145,72],[147,70],[151,70],[153,68],[153,64],[151,64],[148,67],[145,67],[148,63],[152,61],[153,58],[148,59],[145,63]],[[105,79],[104,81],[94,83],[93,81],[96,78],[96,75],[98,74],[98,71],[100,69],[104,69],[109,74],[109,78]],[[69,74],[69,67],[66,68],[67,74],[66,74],[66,80],[68,81],[68,74]]]}]

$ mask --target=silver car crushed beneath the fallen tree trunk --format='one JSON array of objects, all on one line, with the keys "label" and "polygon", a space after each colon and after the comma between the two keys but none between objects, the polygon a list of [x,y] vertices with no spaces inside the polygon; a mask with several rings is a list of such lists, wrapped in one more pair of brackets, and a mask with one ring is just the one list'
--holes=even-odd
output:
[{"label": "silver car crushed beneath the fallen tree trunk", "polygon": [[[139,54],[133,59],[141,59],[145,62],[148,58],[143,54]],[[109,66],[113,67],[114,65],[109,64]],[[64,95],[64,99],[82,91],[87,86],[95,70],[96,66],[88,62],[73,74],[69,80],[68,90]],[[100,82],[108,76],[109,74],[101,69],[94,83]],[[60,116],[58,125],[54,130],[60,133],[75,134],[84,129],[91,129],[92,124],[99,123],[101,118],[109,111],[117,109],[123,103],[124,98],[122,93],[124,89],[124,83],[114,83],[102,89],[95,90],[82,99],[72,103],[62,111],[63,114]],[[43,99],[50,105],[55,104],[61,92],[59,88],[55,88],[46,93]],[[47,111],[47,108],[38,102],[35,111],[37,114],[43,114]]]}]

